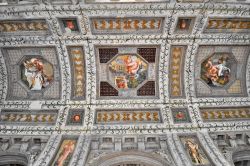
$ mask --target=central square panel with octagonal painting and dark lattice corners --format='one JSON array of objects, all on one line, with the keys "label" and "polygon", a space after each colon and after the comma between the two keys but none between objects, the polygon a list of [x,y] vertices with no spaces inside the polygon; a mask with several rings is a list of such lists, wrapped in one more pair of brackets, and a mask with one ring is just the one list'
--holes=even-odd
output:
[{"label": "central square panel with octagonal painting and dark lattice corners", "polygon": [[[120,46],[111,48],[112,51],[108,51],[107,59],[103,59],[106,56],[103,52],[104,48],[96,47],[96,53],[99,54],[96,55],[97,92],[99,91],[97,97],[138,98],[142,96],[144,98],[155,97],[158,94],[155,80],[157,79],[159,47],[141,49],[136,46]],[[109,53],[112,55],[109,56]]]}]

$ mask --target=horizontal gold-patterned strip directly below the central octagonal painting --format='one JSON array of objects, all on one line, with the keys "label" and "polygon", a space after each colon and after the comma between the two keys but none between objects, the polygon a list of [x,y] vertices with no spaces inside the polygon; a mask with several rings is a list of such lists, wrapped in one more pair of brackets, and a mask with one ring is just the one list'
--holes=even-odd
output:
[{"label": "horizontal gold-patterned strip directly below the central octagonal painting", "polygon": [[161,123],[159,110],[97,110],[96,124]]}]

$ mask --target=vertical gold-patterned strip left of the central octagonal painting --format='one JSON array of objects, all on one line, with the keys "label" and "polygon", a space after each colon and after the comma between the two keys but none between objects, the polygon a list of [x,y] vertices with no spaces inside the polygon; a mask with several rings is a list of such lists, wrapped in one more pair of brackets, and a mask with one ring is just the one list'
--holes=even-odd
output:
[{"label": "vertical gold-patterned strip left of the central octagonal painting", "polygon": [[85,56],[82,47],[68,47],[71,60],[72,73],[72,97],[73,99],[85,98]]}]

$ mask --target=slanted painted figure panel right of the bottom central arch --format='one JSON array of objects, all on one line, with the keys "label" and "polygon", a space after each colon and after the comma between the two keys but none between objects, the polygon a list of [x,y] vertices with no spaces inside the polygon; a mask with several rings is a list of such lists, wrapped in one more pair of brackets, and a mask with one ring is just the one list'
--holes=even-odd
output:
[{"label": "slanted painted figure panel right of the bottom central arch", "polygon": [[193,165],[210,165],[204,150],[201,148],[197,137],[181,136],[180,140]]}]

